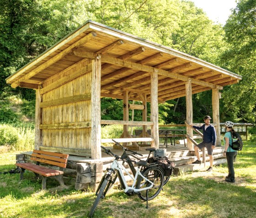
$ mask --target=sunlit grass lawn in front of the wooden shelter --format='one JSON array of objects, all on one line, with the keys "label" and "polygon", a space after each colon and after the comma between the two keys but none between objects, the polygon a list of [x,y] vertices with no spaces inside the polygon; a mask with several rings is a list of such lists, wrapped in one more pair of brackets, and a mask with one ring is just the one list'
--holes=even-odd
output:
[{"label": "sunlit grass lawn in front of the wooden shelter", "polygon": [[[0,154],[0,172],[15,168],[15,153]],[[256,211],[256,145],[245,142],[235,162],[236,183],[224,182],[226,164],[212,172],[171,177],[160,195],[146,203],[114,187],[96,208],[95,218],[254,218]],[[31,172],[0,174],[0,218],[85,218],[94,202],[92,192],[58,189],[49,180],[47,191]]]}]

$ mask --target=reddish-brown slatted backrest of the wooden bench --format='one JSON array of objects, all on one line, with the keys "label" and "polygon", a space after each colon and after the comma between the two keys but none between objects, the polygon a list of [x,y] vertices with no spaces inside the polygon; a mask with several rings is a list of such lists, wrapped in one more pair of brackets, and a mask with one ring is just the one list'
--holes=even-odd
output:
[{"label": "reddish-brown slatted backrest of the wooden bench", "polygon": [[30,159],[32,161],[47,163],[53,166],[65,168],[67,165],[68,157],[68,154],[34,150]]}]

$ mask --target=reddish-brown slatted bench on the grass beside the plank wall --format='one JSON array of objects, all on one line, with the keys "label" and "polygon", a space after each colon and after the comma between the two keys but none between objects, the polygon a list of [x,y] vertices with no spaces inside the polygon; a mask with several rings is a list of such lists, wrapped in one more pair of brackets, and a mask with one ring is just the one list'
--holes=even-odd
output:
[{"label": "reddish-brown slatted bench on the grass beside the plank wall", "polygon": [[[55,152],[45,152],[34,150],[30,160],[36,161],[37,163],[16,163],[17,167],[21,167],[20,180],[23,179],[25,170],[32,171],[36,174],[37,178],[39,175],[43,176],[42,190],[46,189],[46,180],[48,177],[53,177],[59,181],[61,186],[64,186],[63,180],[63,168],[66,167],[68,161],[68,154],[61,154]],[[52,166],[59,167],[59,170],[54,170],[48,167],[39,166],[41,163],[50,164]]]}]

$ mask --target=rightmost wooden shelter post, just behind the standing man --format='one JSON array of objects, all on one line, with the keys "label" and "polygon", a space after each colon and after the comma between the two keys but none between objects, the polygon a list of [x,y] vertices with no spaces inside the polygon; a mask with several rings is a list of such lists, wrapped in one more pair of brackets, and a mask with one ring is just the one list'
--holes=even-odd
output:
[{"label": "rightmost wooden shelter post, just behind the standing man", "polygon": [[216,130],[216,147],[221,146],[221,139],[220,139],[220,126],[219,126],[219,88],[212,89],[212,105],[213,105],[213,122],[216,123],[215,130]]}]

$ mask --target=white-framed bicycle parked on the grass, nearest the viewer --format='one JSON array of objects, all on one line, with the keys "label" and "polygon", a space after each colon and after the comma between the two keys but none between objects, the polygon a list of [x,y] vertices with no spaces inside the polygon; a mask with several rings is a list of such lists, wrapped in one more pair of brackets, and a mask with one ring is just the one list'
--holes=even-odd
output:
[{"label": "white-framed bicycle parked on the grass, nearest the viewer", "polygon": [[[110,149],[106,149],[102,146],[101,148],[104,149],[104,152],[111,155],[115,159],[113,160],[111,167],[107,168],[96,190],[97,197],[92,205],[89,217],[93,216],[93,213],[95,212],[101,198],[104,198],[107,191],[111,188],[112,179],[115,178],[115,173],[117,173],[117,177],[119,178],[119,182],[121,184],[123,192],[128,195],[138,194],[140,199],[147,202],[148,208],[148,200],[154,199],[160,193],[164,183],[163,171],[159,167],[159,164],[149,164],[143,160],[136,162],[131,160],[129,157],[119,157],[118,155],[114,154]],[[126,170],[123,164],[120,163],[120,160],[123,160],[124,162],[127,162],[127,160],[129,160],[129,162],[134,162],[135,164],[139,165],[136,170],[135,176],[133,176],[133,173],[130,174]],[[140,170],[142,166],[145,167],[143,171]],[[127,175],[133,180],[132,186],[128,186],[123,171],[126,172]]]}]

